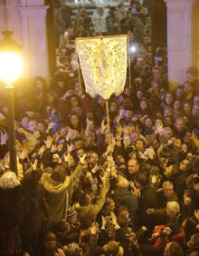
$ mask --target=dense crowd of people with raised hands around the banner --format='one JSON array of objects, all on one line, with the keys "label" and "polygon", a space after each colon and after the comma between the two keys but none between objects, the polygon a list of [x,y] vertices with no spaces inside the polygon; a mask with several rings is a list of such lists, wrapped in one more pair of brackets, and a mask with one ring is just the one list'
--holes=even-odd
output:
[{"label": "dense crowd of people with raised hands around the banner", "polygon": [[91,98],[78,74],[74,38],[87,33],[85,9],[66,29],[51,81],[16,84],[16,173],[1,92],[0,255],[199,255],[197,69],[170,88],[166,49],[152,57],[149,25],[137,32],[129,23],[150,21],[147,8],[132,2],[139,12],[118,5],[124,23],[107,18],[110,34],[128,34],[140,49],[124,92],[109,99],[110,136],[105,100]]}]

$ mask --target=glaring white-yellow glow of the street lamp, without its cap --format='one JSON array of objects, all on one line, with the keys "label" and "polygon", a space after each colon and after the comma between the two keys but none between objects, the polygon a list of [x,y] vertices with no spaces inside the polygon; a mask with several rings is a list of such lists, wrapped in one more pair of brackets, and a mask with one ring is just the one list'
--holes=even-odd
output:
[{"label": "glaring white-yellow glow of the street lamp, without its cap", "polygon": [[12,84],[14,80],[22,74],[22,56],[19,53],[0,53],[0,78],[7,84]]}]

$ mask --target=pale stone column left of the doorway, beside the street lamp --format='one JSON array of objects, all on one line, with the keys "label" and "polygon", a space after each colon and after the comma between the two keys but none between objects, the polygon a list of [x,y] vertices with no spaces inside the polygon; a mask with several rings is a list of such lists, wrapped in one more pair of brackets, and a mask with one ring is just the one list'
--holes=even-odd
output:
[{"label": "pale stone column left of the doorway, beside the street lamp", "polygon": [[43,0],[21,0],[25,76],[49,76],[46,11]]}]

